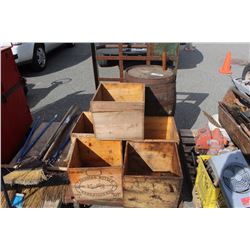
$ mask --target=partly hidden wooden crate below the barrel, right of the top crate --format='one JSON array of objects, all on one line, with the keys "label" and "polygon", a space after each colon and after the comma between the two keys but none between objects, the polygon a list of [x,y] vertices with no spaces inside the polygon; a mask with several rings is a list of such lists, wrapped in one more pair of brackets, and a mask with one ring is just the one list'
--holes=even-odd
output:
[{"label": "partly hidden wooden crate below the barrel, right of the top crate", "polygon": [[180,138],[173,116],[145,116],[144,139],[174,141]]}]

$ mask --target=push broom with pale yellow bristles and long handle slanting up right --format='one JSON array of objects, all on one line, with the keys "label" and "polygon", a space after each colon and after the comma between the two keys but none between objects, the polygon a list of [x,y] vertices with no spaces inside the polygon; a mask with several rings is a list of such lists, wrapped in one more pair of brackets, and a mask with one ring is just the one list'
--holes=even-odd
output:
[{"label": "push broom with pale yellow bristles and long handle slanting up right", "polygon": [[18,166],[17,170],[4,176],[5,183],[30,186],[48,180],[51,175],[45,172],[47,167],[46,161],[48,161],[53,150],[57,147],[61,135],[75,118],[77,111],[78,108],[76,106],[71,106],[39,155],[25,159]]}]

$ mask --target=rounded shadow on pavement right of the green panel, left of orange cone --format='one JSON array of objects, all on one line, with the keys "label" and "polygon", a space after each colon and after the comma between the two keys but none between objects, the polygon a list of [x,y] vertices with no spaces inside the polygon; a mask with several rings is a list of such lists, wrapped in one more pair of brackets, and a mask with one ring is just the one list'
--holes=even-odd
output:
[{"label": "rounded shadow on pavement right of the green panel, left of orange cone", "polygon": [[181,48],[178,69],[196,68],[203,61],[203,58],[202,53],[197,48],[194,51],[185,51],[184,48]]}]

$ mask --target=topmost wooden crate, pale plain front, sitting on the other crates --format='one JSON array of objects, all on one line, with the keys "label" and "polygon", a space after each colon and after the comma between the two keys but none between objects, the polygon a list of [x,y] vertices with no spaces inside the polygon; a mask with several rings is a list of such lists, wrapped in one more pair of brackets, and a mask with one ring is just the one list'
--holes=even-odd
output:
[{"label": "topmost wooden crate, pale plain front, sitting on the other crates", "polygon": [[90,102],[95,136],[100,140],[144,138],[145,86],[101,83]]}]

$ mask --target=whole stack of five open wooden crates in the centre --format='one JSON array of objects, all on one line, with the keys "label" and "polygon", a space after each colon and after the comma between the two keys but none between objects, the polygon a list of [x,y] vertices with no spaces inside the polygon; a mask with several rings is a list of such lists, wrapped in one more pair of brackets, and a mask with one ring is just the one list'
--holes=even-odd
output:
[{"label": "whole stack of five open wooden crates in the centre", "polygon": [[144,84],[99,85],[90,112],[72,131],[68,174],[78,202],[178,206],[182,172],[174,118],[144,114]]}]

